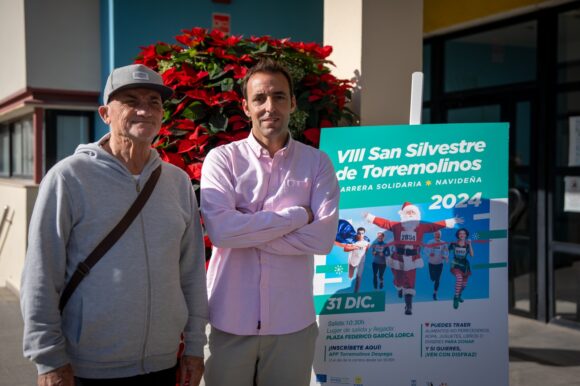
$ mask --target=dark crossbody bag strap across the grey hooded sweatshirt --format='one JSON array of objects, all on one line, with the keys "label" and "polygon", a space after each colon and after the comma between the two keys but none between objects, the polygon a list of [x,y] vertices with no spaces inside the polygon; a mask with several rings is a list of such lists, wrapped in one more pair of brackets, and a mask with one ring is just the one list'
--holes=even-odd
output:
[{"label": "dark crossbody bag strap across the grey hooded sweatshirt", "polygon": [[70,280],[66,284],[66,287],[62,291],[60,296],[60,302],[58,304],[58,309],[62,313],[64,306],[70,299],[71,295],[73,294],[74,290],[78,287],[81,281],[89,274],[91,268],[97,264],[97,262],[107,253],[107,251],[115,245],[115,243],[123,236],[123,233],[129,228],[135,217],[139,214],[145,203],[151,196],[153,189],[155,189],[155,185],[157,184],[157,180],[161,175],[161,165],[157,167],[151,173],[151,176],[145,183],[143,190],[139,193],[139,196],[133,202],[133,205],[129,208],[125,216],[119,221],[119,223],[113,228],[111,232],[93,249],[90,255],[84,260],[81,261],[77,265],[77,269],[71,276]]}]

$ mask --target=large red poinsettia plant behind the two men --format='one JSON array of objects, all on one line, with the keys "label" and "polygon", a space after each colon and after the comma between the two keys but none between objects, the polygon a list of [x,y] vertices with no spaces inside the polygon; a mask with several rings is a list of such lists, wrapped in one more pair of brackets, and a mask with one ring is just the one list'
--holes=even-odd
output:
[{"label": "large red poinsettia plant behind the two men", "polygon": [[330,46],[204,28],[183,30],[175,39],[141,47],[136,63],[158,71],[174,90],[153,146],[163,160],[184,169],[196,188],[208,151],[250,132],[241,84],[261,58],[280,61],[292,76],[297,106],[289,129],[294,139],[318,147],[322,127],[357,122],[347,107],[353,85],[331,74]]}]

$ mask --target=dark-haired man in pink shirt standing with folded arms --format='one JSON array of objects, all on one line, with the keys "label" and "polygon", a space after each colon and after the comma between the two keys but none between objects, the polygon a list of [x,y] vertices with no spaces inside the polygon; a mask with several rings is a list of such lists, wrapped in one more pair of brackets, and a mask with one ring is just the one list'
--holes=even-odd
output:
[{"label": "dark-haired man in pink shirt standing with folded arms", "polygon": [[247,139],[212,150],[201,208],[214,243],[208,270],[207,386],[308,385],[318,335],[313,255],[333,245],[338,183],[329,158],[290,136],[288,72],[246,74]]}]

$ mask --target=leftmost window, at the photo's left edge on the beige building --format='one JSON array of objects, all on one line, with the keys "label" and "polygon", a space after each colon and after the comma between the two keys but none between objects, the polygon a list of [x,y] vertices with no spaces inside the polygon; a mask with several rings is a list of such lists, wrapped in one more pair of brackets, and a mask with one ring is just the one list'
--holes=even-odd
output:
[{"label": "leftmost window, at the photo's left edge on the beige building", "polygon": [[32,116],[0,127],[0,175],[32,178],[34,166]]}]

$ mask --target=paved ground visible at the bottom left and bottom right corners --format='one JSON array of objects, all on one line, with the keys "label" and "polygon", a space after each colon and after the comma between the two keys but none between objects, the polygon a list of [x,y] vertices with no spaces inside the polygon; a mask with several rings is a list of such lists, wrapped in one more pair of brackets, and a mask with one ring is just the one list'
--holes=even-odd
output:
[{"label": "paved ground visible at the bottom left and bottom right corners", "polygon": [[[580,386],[580,330],[510,315],[509,336],[511,386]],[[0,288],[0,386],[35,384],[36,370],[22,357],[18,298]]]}]

